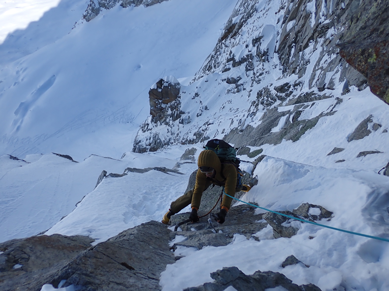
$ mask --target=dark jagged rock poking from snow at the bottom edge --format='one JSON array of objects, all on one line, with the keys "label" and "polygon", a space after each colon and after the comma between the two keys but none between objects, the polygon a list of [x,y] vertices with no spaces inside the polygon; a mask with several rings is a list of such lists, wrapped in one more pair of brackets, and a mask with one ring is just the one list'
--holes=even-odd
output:
[{"label": "dark jagged rock poking from snow at the bottom edge", "polygon": [[186,288],[183,291],[223,291],[227,290],[226,288],[229,286],[237,291],[265,291],[265,289],[278,286],[288,291],[321,291],[313,284],[300,286],[293,284],[292,280],[289,280],[285,275],[272,271],[256,271],[252,275],[245,275],[237,267],[224,267],[223,270],[211,273],[211,278],[215,281],[198,287]]}]

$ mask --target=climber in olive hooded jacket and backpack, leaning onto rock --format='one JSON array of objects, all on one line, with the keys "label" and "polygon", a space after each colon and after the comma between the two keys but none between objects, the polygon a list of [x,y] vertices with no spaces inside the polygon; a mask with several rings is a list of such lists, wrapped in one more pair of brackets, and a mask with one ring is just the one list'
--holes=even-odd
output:
[{"label": "climber in olive hooded jacket and backpack, leaning onto rock", "polygon": [[[217,142],[216,150],[214,150],[215,146],[213,146],[214,141]],[[231,145],[223,140],[214,139],[207,143],[205,149],[206,150],[202,151],[198,157],[195,189],[187,191],[184,195],[170,204],[170,209],[164,215],[162,223],[167,224],[172,215],[178,213],[189,204],[191,204],[192,208],[189,220],[197,222],[199,220],[197,211],[200,207],[203,191],[211,184],[224,187],[224,193],[233,197],[235,196],[235,192],[247,192],[251,189],[250,186],[242,185],[241,183],[240,176],[242,176],[242,171],[235,163],[235,160],[237,160],[238,163],[239,160],[236,159],[236,151]],[[218,152],[219,155],[217,155],[216,152]],[[221,160],[223,163],[221,163]],[[226,214],[231,207],[231,202],[232,198],[224,195],[220,212],[215,215],[215,220],[217,222],[224,222]]]}]

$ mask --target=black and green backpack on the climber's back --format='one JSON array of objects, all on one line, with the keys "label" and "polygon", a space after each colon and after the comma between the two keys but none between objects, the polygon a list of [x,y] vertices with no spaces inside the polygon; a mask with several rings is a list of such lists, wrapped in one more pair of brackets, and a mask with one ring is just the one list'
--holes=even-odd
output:
[{"label": "black and green backpack on the climber's back", "polygon": [[[223,164],[233,164],[235,168],[237,168],[238,176],[237,176],[237,186],[235,187],[235,191],[236,192],[240,191],[243,187],[242,184],[243,172],[239,168],[240,160],[237,158],[237,151],[234,149],[234,147],[232,147],[224,140],[211,139],[207,142],[207,144],[203,148],[214,151],[219,157],[222,166]],[[223,170],[221,175],[224,178]]]}]

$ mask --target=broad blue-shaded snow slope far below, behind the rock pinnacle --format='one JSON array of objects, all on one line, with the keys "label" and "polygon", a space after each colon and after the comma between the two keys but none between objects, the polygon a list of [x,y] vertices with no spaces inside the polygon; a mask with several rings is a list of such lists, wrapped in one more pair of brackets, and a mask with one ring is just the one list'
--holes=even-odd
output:
[{"label": "broad blue-shaded snow slope far below, behind the rock pinnacle", "polygon": [[[58,13],[31,24],[18,37],[42,40],[44,46],[0,69],[0,154],[23,158],[66,151],[75,159],[91,153],[120,158],[131,149],[131,135],[149,112],[150,85],[165,74],[193,76],[235,3],[117,5],[73,29],[74,23],[67,22],[70,33],[58,32],[59,39],[46,37],[50,29],[33,28],[50,26],[52,17],[61,17]],[[70,17],[67,9],[61,12]],[[11,51],[11,61],[15,54],[20,53]]]}]

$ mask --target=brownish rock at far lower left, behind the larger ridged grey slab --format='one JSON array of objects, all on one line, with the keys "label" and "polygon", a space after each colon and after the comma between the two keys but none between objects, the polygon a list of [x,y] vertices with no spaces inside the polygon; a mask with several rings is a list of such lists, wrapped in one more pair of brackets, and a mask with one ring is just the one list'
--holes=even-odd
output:
[{"label": "brownish rock at far lower left, behind the larger ridged grey slab", "polygon": [[[0,244],[0,290],[37,290],[52,273],[91,247],[87,236],[32,236]],[[22,265],[12,269],[14,265]],[[42,278],[44,277],[44,278]],[[60,281],[56,284],[58,285]]]}]

